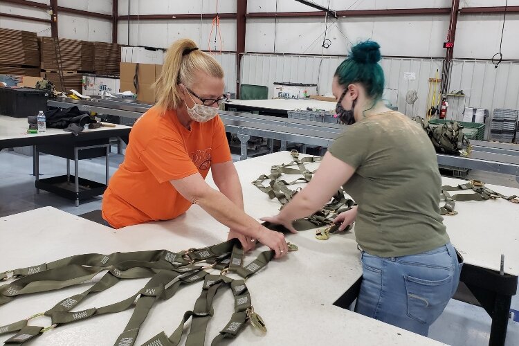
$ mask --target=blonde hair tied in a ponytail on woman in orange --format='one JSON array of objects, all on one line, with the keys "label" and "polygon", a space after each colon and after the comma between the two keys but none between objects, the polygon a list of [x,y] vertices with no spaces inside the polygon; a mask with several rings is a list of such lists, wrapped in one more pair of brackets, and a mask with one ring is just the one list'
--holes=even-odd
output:
[{"label": "blonde hair tied in a ponytail on woman in orange", "polygon": [[[184,55],[184,52],[187,54]],[[197,71],[203,71],[211,77],[224,78],[224,70],[215,58],[197,49],[197,44],[191,39],[173,42],[167,50],[161,75],[154,84],[156,105],[164,110],[180,107],[177,85],[182,83],[190,88]]]}]

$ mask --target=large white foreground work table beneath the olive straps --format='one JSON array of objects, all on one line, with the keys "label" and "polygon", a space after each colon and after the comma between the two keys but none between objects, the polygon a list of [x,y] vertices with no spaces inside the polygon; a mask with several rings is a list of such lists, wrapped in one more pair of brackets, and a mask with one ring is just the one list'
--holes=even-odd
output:
[{"label": "large white foreground work table beneath the olive straps", "polygon": [[[290,161],[288,152],[271,154],[237,163],[244,188],[246,211],[253,217],[273,215],[279,205],[269,201],[251,181],[269,172],[273,163]],[[210,180],[210,179],[209,179]],[[112,253],[167,248],[172,251],[208,246],[226,239],[227,229],[198,206],[172,221],[154,222],[112,230],[54,208],[40,208],[0,219],[3,247],[0,271],[19,268],[79,253]],[[266,322],[262,336],[252,327],[232,345],[439,345],[410,331],[358,315],[332,305],[361,276],[354,235],[333,236],[326,242],[312,230],[287,235],[299,250],[282,260],[271,261],[249,280],[247,286],[255,311]],[[248,263],[265,247],[247,255]],[[100,307],[133,295],[147,280],[122,280],[116,286],[89,297],[78,309]],[[84,285],[60,291],[26,295],[0,306],[0,325],[26,318],[51,308],[56,302],[85,289]],[[181,316],[192,309],[201,283],[181,289],[173,298],[157,302],[150,311],[136,345],[160,331],[167,335],[178,326]],[[215,316],[209,323],[206,343],[226,325],[233,313],[230,291],[218,293]],[[76,324],[57,327],[40,336],[34,345],[107,345],[115,342],[131,311],[97,316]],[[31,325],[49,324],[48,318]],[[6,340],[7,336],[0,336]],[[111,343],[109,343],[111,345]]]}]

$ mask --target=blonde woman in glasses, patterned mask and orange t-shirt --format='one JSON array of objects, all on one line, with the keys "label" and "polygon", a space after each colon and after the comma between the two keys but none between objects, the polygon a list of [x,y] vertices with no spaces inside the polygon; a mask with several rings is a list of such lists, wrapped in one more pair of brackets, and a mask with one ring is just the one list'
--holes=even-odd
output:
[{"label": "blonde woman in glasses, patterned mask and orange t-shirt", "polygon": [[[110,179],[102,217],[113,228],[174,219],[198,204],[230,228],[246,250],[256,240],[286,255],[282,233],[268,230],[243,211],[224,124],[217,115],[224,71],[190,39],[169,48],[155,84],[158,102],[131,129],[125,160]],[[211,169],[219,190],[204,180]]]}]

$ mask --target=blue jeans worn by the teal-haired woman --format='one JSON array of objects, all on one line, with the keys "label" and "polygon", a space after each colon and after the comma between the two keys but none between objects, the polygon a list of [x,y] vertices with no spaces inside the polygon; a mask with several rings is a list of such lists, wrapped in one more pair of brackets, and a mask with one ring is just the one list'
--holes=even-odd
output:
[{"label": "blue jeans worn by the teal-haired woman", "polygon": [[363,279],[355,311],[427,336],[457,289],[461,267],[450,243],[401,257],[363,251]]}]

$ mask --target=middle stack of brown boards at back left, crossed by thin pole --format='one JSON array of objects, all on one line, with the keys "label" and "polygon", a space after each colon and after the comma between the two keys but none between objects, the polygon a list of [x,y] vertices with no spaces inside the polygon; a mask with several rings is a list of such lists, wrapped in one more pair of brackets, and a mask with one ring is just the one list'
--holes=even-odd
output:
[{"label": "middle stack of brown boards at back left, crossed by thin pole", "polygon": [[[62,65],[64,71],[93,71],[93,42],[79,41],[77,39],[59,39]],[[57,71],[57,57],[54,39],[41,37],[39,48],[42,60],[42,70]]]}]

